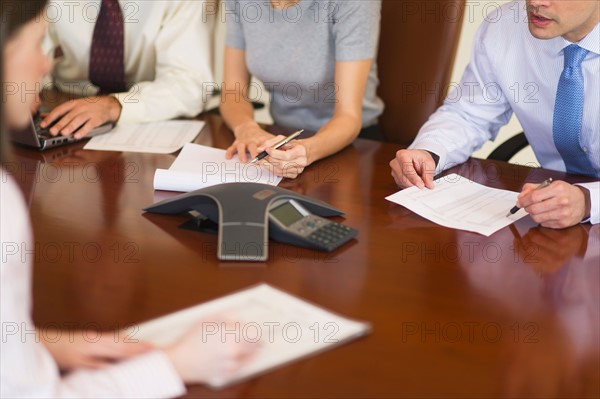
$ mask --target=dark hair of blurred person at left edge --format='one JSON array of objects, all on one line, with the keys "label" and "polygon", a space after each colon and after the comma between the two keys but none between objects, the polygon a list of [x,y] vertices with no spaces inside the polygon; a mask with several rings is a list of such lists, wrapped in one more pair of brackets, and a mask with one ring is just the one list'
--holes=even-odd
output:
[{"label": "dark hair of blurred person at left edge", "polygon": [[47,0],[0,0],[0,164],[8,161],[10,142],[4,120],[4,45],[29,21],[40,17]]}]

